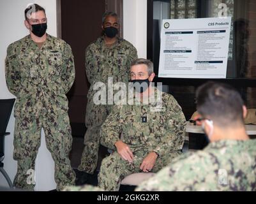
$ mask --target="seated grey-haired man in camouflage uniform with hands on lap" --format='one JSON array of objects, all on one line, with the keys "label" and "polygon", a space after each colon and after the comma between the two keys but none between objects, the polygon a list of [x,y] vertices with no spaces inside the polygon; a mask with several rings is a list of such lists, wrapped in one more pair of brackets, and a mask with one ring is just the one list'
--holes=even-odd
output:
[{"label": "seated grey-haired man in camouflage uniform with hands on lap", "polygon": [[[150,85],[154,78],[153,63],[135,60],[130,77],[132,82],[144,82],[147,87],[135,94],[139,103],[115,106],[102,125],[102,145],[116,150],[103,159],[98,175],[98,186],[107,191],[118,191],[121,180],[132,173],[161,170],[183,148],[184,114],[172,95]],[[162,94],[162,101],[150,100],[157,92]]]}]

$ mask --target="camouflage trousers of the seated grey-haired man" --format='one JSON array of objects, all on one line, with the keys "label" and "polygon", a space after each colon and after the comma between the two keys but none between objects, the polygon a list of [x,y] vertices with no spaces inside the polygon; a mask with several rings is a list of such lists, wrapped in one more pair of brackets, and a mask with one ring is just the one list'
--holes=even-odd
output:
[{"label": "camouflage trousers of the seated grey-haired man", "polygon": [[[140,170],[140,164],[147,154],[148,152],[133,153],[133,163],[122,159],[117,152],[110,154],[110,156],[102,161],[100,173],[98,174],[98,187],[105,191],[119,191],[121,180],[123,180],[124,177],[132,173],[142,172],[142,170]],[[166,156],[158,157],[151,172],[156,173],[161,170],[180,154],[181,152],[172,152]]]}]

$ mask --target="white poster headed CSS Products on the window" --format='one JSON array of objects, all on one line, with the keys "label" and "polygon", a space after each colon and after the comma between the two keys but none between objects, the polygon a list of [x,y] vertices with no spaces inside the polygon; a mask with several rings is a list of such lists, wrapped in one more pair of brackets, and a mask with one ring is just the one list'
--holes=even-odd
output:
[{"label": "white poster headed CSS Products on the window", "polygon": [[226,78],[231,17],[163,20],[158,77]]}]

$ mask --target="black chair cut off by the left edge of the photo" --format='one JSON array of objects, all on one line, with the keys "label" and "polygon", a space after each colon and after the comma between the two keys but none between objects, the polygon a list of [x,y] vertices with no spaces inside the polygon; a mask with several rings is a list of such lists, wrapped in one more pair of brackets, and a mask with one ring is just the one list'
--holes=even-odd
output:
[{"label": "black chair cut off by the left edge of the photo", "polygon": [[6,133],[6,128],[10,119],[14,102],[14,98],[0,99],[0,171],[11,189],[13,189],[13,184],[11,183],[10,177],[3,168],[4,163],[2,161],[4,160],[4,136],[10,135],[10,133]]}]

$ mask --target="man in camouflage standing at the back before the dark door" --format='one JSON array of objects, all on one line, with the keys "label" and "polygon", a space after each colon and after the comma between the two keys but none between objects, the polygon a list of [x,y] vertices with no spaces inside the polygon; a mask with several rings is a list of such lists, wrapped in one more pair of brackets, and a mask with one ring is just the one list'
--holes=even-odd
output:
[{"label": "man in camouflage standing at the back before the dark door", "polygon": [[[97,82],[108,84],[128,82],[130,65],[137,58],[137,50],[128,41],[117,36],[119,24],[116,13],[104,13],[102,18],[103,36],[86,48],[86,75],[91,84],[87,94],[86,135],[80,171],[93,174],[98,162],[100,127],[109,115],[112,105],[96,105],[93,90]],[[108,96],[107,96],[108,98]]]}]

